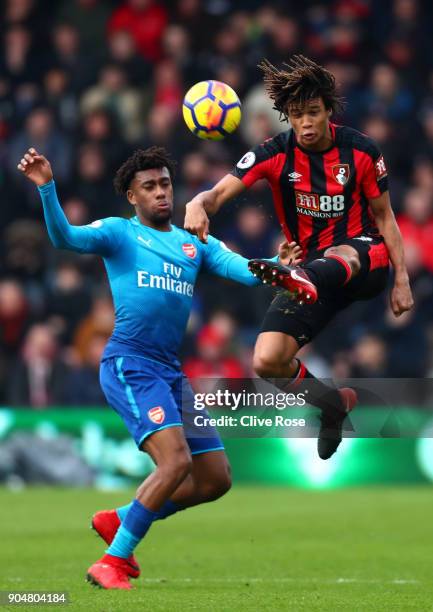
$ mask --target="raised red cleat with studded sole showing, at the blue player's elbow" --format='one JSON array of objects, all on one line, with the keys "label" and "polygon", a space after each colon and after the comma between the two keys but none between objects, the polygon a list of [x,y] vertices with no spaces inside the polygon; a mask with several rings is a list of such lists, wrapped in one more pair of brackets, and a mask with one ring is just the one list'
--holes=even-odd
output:
[{"label": "raised red cleat with studded sole showing, at the blue player's elbow", "polygon": [[254,276],[260,278],[265,285],[280,286],[286,289],[290,297],[298,304],[314,304],[317,302],[317,287],[308,275],[298,266],[283,266],[265,259],[251,259],[248,268]]}]

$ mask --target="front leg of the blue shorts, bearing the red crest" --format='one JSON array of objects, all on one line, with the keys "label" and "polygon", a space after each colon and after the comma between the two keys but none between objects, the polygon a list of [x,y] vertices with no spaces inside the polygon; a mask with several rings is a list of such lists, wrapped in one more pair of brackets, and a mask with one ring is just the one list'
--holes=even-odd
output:
[{"label": "front leg of the blue shorts, bearing the red crest", "polygon": [[164,366],[140,357],[112,357],[101,363],[105,397],[138,448],[155,432],[182,426],[170,386],[172,377]]}]

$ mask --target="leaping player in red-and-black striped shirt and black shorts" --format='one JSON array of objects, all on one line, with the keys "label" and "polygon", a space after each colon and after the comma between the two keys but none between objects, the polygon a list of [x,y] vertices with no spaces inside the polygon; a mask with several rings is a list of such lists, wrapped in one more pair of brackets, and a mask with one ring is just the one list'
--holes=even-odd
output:
[{"label": "leaping player in red-and-black striped shirt and black shorts", "polygon": [[403,243],[391,208],[387,170],[367,136],[330,121],[341,99],[334,76],[303,56],[281,69],[260,64],[274,108],[291,129],[246,153],[231,174],[187,204],[185,228],[206,242],[208,214],[259,179],[267,179],[289,242],[302,249],[301,266],[256,261],[263,281],[286,288],[272,302],[258,336],[254,368],[288,389],[308,378],[311,404],[322,410],[318,452],[328,459],[341,442],[352,389],[331,389],[295,358],[341,309],[378,295],[394,267],[391,307],[413,305]]}]

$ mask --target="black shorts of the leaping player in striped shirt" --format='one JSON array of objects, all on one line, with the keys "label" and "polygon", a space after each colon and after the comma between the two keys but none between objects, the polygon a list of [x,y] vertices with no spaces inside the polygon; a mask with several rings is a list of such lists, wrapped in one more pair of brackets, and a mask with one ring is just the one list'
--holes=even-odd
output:
[{"label": "black shorts of the leaping player in striped shirt", "polygon": [[[383,291],[388,282],[389,258],[380,238],[360,236],[344,242],[358,251],[361,268],[343,287],[322,289],[315,304],[302,306],[279,289],[260,329],[282,332],[295,338],[299,346],[311,342],[334,316],[357,300],[369,300]],[[323,257],[318,253],[317,257]],[[302,267],[302,266],[301,266]]]}]

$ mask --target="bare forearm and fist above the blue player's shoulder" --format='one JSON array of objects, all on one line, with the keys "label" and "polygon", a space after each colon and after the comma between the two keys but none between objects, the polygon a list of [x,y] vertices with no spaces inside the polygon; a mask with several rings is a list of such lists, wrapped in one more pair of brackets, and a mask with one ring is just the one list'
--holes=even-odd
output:
[{"label": "bare forearm and fist above the blue player's shoulder", "polygon": [[207,243],[209,236],[209,217],[221,206],[235,198],[245,189],[242,181],[232,174],[226,174],[209,191],[198,193],[186,205],[184,227],[191,234],[196,234],[201,242]]}]

